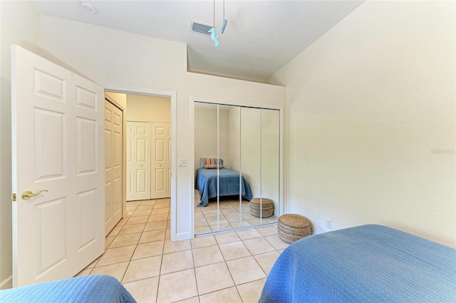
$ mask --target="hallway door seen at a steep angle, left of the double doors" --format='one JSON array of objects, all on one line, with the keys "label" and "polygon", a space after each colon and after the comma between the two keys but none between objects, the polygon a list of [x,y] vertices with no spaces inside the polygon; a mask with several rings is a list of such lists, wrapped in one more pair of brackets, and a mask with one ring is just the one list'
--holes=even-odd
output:
[{"label": "hallway door seen at a steep angle, left of the double doors", "polygon": [[122,218],[123,111],[105,100],[105,235]]}]

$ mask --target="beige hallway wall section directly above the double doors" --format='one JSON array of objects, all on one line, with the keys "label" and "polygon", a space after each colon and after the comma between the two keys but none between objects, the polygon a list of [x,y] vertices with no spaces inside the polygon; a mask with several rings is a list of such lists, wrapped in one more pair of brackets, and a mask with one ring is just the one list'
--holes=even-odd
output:
[{"label": "beige hallway wall section directly above the double doors", "polygon": [[127,120],[170,123],[170,98],[127,94]]}]

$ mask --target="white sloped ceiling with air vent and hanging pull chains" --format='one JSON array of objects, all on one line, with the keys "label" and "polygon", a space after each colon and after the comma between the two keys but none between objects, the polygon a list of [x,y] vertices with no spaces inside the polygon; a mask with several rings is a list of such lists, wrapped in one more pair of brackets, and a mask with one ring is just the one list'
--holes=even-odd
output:
[{"label": "white sloped ceiling with air vent and hanging pull chains", "polygon": [[[363,1],[29,1],[41,14],[187,43],[189,71],[266,82]],[[215,3],[214,3],[215,2]],[[192,33],[191,21],[219,37]],[[220,33],[224,16],[227,27]]]}]

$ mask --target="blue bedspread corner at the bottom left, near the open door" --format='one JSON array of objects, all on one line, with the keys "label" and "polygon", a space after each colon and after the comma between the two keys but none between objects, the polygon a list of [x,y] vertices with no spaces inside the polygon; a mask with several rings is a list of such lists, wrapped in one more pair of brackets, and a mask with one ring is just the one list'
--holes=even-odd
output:
[{"label": "blue bedspread corner at the bottom left, near the open door", "polygon": [[94,274],[5,289],[0,302],[26,303],[134,303],[135,299],[115,277]]}]

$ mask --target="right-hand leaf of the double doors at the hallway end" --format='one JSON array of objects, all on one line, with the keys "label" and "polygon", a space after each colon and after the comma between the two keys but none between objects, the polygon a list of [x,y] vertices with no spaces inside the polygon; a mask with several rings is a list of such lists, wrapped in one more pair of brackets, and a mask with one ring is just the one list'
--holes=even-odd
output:
[{"label": "right-hand leaf of the double doors at the hallway end", "polygon": [[171,125],[151,124],[152,144],[152,188],[150,197],[171,197]]}]

